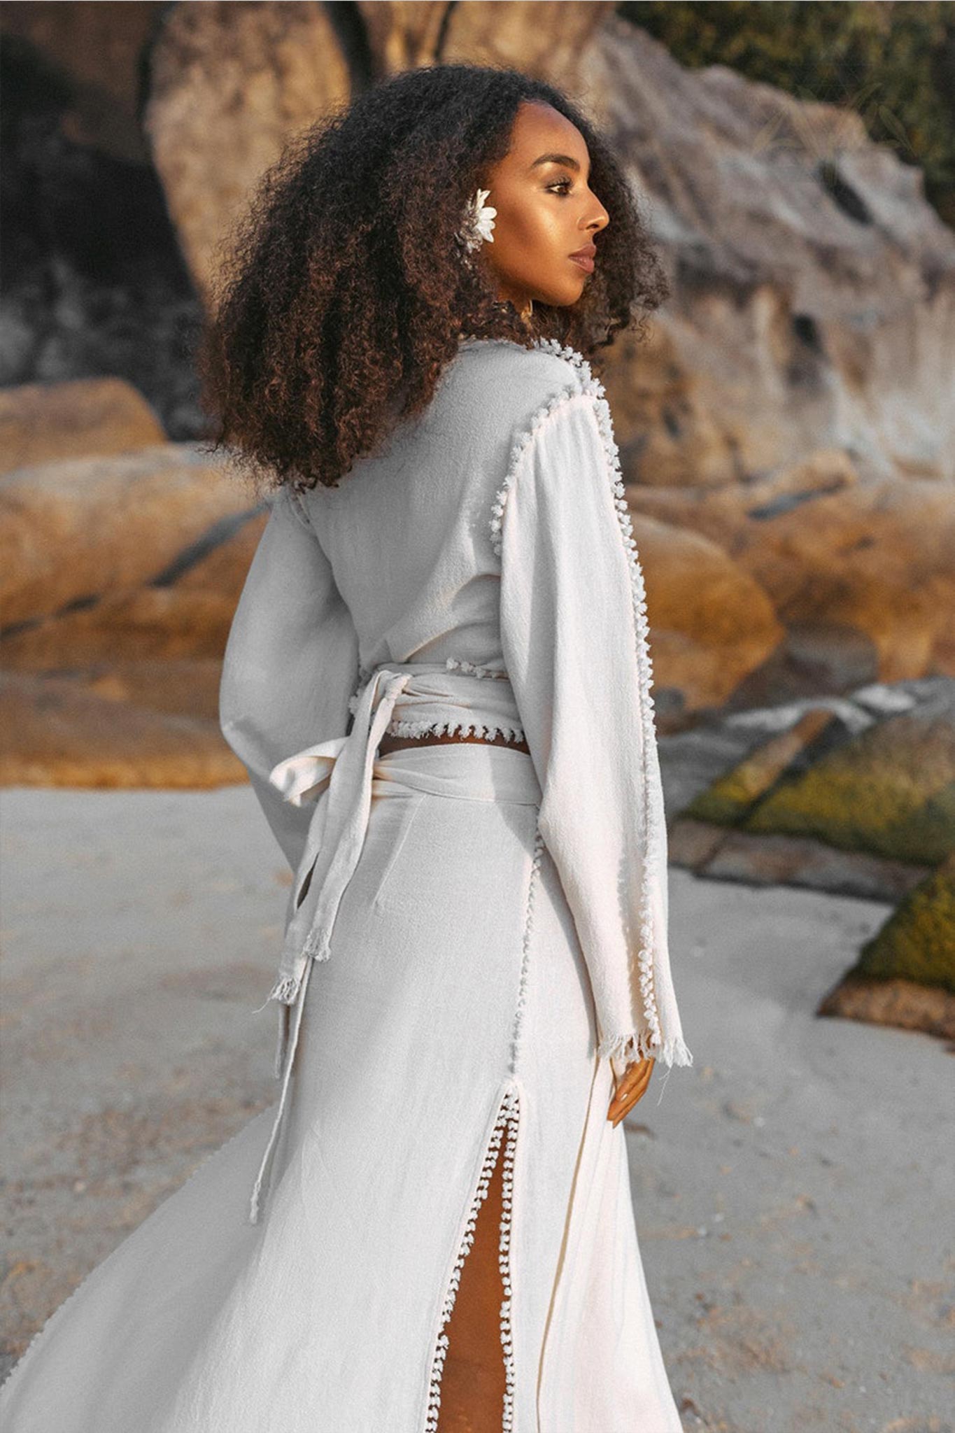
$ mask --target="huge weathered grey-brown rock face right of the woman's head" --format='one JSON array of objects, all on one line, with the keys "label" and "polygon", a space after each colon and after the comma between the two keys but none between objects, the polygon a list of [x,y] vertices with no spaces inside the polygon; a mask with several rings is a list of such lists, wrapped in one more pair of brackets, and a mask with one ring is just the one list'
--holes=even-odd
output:
[{"label": "huge weathered grey-brown rock face right of the woman's head", "polygon": [[607,371],[630,479],[737,484],[818,447],[955,476],[955,234],[921,171],[852,109],[684,69],[619,16],[583,63],[673,284]]}]

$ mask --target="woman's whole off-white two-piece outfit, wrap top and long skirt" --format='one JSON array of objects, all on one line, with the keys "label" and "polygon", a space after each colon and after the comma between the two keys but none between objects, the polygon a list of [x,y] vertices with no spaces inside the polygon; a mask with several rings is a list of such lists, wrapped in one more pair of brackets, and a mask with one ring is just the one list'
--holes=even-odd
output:
[{"label": "woman's whole off-white two-piece outfit, wrap top and long skirt", "polygon": [[614,1066],[692,1056],[643,579],[580,355],[462,342],[339,489],[283,489],[220,712],[294,873],[278,1099],[57,1310],[4,1427],[435,1433],[500,1159],[503,1433],[679,1433],[606,1116]]}]

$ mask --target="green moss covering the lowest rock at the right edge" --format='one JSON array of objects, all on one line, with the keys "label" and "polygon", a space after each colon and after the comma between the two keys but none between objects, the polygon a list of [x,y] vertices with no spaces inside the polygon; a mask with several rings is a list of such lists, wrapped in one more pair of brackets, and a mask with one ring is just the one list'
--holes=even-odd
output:
[{"label": "green moss covering the lowest rock at the right edge", "polygon": [[852,974],[915,980],[955,995],[955,860],[905,897],[862,947]]}]

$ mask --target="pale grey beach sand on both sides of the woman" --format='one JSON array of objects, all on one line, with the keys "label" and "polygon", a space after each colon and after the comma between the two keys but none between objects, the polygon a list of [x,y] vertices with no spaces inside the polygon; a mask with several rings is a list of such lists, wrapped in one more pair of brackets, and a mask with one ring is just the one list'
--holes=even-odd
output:
[{"label": "pale grey beach sand on both sides of the woman", "polygon": [[[288,873],[248,787],[13,788],[0,825],[13,1354],[273,1099],[273,1009],[253,1009]],[[952,1433],[952,1056],[812,1013],[886,907],[670,878],[696,1063],[656,1070],[627,1125],[684,1427]]]}]

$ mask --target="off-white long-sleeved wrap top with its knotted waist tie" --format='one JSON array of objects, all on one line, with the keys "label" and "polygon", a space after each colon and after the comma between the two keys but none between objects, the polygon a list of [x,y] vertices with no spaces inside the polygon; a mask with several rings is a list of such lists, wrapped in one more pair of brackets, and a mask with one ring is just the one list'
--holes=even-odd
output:
[{"label": "off-white long-sleeved wrap top with its knotted waist tie", "polygon": [[220,688],[222,731],[295,873],[269,996],[283,1007],[275,1136],[304,986],[331,956],[384,731],[527,741],[598,1053],[617,1068],[646,1055],[692,1065],[670,973],[650,686],[610,410],[574,350],[462,340],[425,414],[338,489],[279,490]]}]

